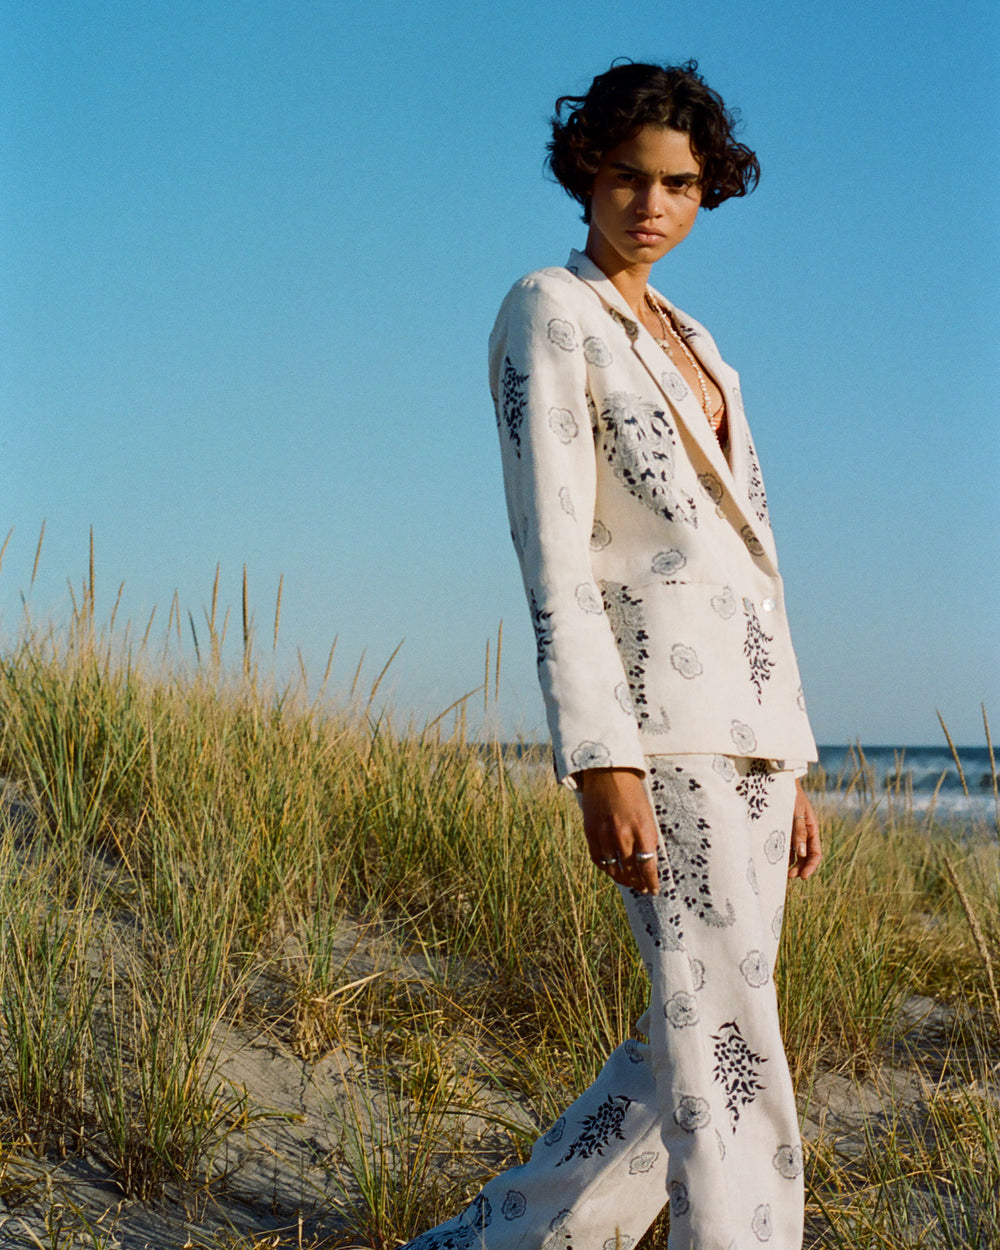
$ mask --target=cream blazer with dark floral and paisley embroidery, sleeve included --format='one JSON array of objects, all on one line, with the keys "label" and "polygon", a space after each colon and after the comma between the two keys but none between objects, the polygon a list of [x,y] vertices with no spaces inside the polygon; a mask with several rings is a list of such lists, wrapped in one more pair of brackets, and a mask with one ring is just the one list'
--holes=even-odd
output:
[{"label": "cream blazer with dark floral and paisley embroidery, sleeve included", "polygon": [[562,780],[644,770],[654,754],[816,758],[739,376],[672,311],[725,396],[729,456],[585,255],[516,282],[490,336],[508,515]]}]

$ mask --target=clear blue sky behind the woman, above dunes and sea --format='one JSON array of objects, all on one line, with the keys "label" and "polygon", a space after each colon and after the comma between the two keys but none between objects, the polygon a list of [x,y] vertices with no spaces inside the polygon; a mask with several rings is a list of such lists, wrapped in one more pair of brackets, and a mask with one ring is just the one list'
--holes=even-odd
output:
[{"label": "clear blue sky behind the woman, above dunes and sea", "polygon": [[[559,94],[696,56],[764,176],[654,281],[741,371],[821,741],[1000,736],[992,0],[8,0],[0,624],[198,620],[248,566],[265,650],[335,680],[400,639],[424,718],[504,620],[534,646],[485,381],[496,308],[584,228]],[[185,636],[190,650],[190,639]],[[234,652],[235,655],[235,652]]]}]

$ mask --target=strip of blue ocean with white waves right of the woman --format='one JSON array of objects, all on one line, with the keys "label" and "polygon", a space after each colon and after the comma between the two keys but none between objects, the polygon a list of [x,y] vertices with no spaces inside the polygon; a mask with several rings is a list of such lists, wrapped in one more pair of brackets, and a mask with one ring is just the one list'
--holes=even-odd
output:
[{"label": "strip of blue ocean with white waves right of the woman", "polygon": [[[959,746],[965,785],[948,746],[820,746],[814,776],[825,778],[830,801],[910,810],[945,824],[996,829],[990,752]],[[839,798],[838,798],[839,795]]]}]

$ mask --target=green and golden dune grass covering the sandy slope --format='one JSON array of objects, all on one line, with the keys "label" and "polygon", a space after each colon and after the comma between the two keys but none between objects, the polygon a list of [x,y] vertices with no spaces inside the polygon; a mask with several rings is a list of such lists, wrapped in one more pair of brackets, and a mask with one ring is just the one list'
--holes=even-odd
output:
[{"label": "green and golden dune grass covering the sandy slope", "polygon": [[[114,638],[85,589],[66,631],[25,626],[0,655],[0,1201],[25,1184],[9,1160],[74,1152],[130,1198],[224,1188],[225,1140],[260,1112],[219,1076],[218,1039],[251,1021],[305,1060],[360,1056],[330,1109],[340,1231],[322,1244],[399,1245],[524,1158],[641,1012],[615,890],[545,759],[465,741],[460,711],[454,731],[398,734],[370,699],[265,688],[249,628],[236,676],[212,620],[195,668]],[[905,805],[824,826],[779,966],[801,1106],[825,1074],[865,1080],[905,1044],[906,996],[955,1012],[919,1106],[848,1154],[809,1144],[809,1244],[989,1246],[995,832],[956,840]],[[332,941],[345,915],[426,974],[359,978]],[[74,1226],[72,1244],[104,1244],[85,1212]],[[301,1228],[214,1242],[312,1244]],[[646,1244],[665,1245],[664,1221]]]}]

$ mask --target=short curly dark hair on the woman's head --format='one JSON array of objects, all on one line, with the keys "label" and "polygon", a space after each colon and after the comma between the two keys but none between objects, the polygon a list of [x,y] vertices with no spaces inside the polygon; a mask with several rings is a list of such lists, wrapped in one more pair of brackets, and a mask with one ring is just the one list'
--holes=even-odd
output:
[{"label": "short curly dark hair on the woman's head", "polygon": [[[562,111],[568,110],[566,120]],[[698,61],[682,65],[612,65],[590,84],[586,95],[562,95],[555,102],[546,164],[590,221],[590,189],[605,152],[642,126],[666,126],[690,135],[701,161],[701,208],[752,191],[760,179],[756,155],[736,142],[738,115],[726,109],[698,72]]]}]

